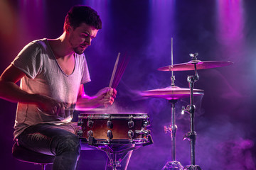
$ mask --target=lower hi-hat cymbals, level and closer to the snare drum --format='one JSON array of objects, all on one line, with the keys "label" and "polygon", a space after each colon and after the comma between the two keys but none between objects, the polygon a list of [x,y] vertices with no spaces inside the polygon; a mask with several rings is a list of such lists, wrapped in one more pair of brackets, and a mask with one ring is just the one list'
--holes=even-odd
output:
[{"label": "lower hi-hat cymbals, level and closer to the snare drum", "polygon": [[[203,95],[203,90],[193,89],[193,96]],[[178,86],[168,86],[164,89],[153,89],[143,91],[142,96],[165,98],[168,100],[190,97],[190,89],[180,88]]]}]

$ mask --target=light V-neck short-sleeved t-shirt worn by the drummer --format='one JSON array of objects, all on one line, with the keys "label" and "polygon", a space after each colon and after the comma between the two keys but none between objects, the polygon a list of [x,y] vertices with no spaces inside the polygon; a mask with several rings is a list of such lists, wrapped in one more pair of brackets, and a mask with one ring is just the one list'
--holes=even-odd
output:
[{"label": "light V-neck short-sleeved t-shirt worn by the drummer", "polygon": [[[90,81],[85,55],[75,54],[75,68],[67,75],[60,68],[48,40],[35,40],[26,45],[11,64],[26,74],[21,79],[20,88],[30,94],[43,94],[65,102],[68,109],[62,118],[43,113],[31,103],[18,103],[14,125],[14,138],[30,125],[38,123],[62,124],[73,118],[73,109],[78,97],[80,84]],[[68,112],[68,113],[67,113]]]}]

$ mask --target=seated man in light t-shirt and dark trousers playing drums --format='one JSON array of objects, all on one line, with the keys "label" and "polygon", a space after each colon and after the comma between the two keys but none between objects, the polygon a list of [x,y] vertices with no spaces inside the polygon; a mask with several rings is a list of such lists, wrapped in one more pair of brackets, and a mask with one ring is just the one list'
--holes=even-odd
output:
[{"label": "seated man in light t-shirt and dark trousers playing drums", "polygon": [[90,74],[83,52],[101,28],[95,10],[74,6],[59,38],[28,43],[1,74],[0,97],[18,102],[14,139],[26,149],[54,155],[53,170],[71,170],[77,164],[80,140],[70,123],[75,106],[110,106],[117,94],[108,87],[95,96],[84,92]]}]

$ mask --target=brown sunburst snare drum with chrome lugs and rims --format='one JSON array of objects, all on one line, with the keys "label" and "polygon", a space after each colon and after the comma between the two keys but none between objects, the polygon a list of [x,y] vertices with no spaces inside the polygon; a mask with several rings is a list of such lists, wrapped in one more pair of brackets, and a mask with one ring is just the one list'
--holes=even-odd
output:
[{"label": "brown sunburst snare drum with chrome lugs and rims", "polygon": [[[150,137],[146,113],[81,113],[78,136],[89,145],[144,144]],[[151,139],[151,137],[150,137]]]}]

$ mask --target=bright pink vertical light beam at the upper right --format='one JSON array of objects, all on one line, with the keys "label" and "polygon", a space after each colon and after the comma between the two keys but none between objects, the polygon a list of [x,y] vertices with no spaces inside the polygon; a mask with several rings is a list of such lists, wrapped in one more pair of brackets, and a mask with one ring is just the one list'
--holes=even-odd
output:
[{"label": "bright pink vertical light beam at the upper right", "polygon": [[217,1],[217,37],[226,56],[233,56],[242,50],[244,43],[244,16],[242,1]]}]

